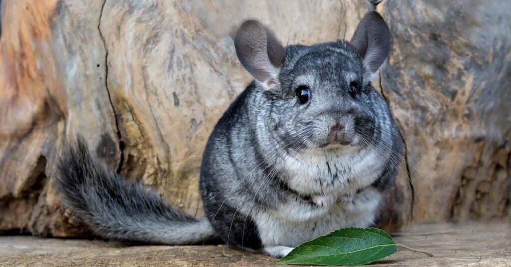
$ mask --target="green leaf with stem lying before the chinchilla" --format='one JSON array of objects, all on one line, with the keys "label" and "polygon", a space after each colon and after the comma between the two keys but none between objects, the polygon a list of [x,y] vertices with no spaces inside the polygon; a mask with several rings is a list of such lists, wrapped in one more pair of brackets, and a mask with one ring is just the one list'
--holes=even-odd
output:
[{"label": "green leaf with stem lying before the chinchilla", "polygon": [[396,252],[397,246],[383,230],[350,227],[300,244],[278,263],[362,265]]}]

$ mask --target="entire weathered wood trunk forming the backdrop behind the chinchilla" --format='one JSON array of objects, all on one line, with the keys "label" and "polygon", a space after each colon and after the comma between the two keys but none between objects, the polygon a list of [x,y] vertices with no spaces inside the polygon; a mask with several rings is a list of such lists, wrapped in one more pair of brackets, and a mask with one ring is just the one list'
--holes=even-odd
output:
[{"label": "entire weathered wood trunk forming the backdrop behind the chinchilla", "polygon": [[[375,85],[403,128],[409,162],[384,205],[387,229],[406,225],[412,204],[415,220],[511,213],[509,4],[448,3],[377,6],[394,41]],[[60,150],[76,133],[112,169],[200,216],[205,141],[250,80],[235,56],[236,27],[257,18],[284,43],[312,44],[350,38],[373,8],[362,0],[5,1],[0,229],[86,234],[53,185]]]}]

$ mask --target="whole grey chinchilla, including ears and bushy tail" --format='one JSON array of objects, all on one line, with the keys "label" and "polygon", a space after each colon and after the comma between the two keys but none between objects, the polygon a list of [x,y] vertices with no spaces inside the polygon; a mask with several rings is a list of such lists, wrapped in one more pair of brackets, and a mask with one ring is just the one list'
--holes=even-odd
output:
[{"label": "whole grey chinchilla, including ears and bushy tail", "polygon": [[207,142],[200,174],[206,218],[126,182],[79,141],[63,157],[58,185],[91,230],[170,244],[218,236],[283,256],[336,229],[374,224],[402,149],[387,104],[370,83],[389,51],[383,19],[368,13],[350,42],[287,48],[246,21],[235,46],[254,81]]}]

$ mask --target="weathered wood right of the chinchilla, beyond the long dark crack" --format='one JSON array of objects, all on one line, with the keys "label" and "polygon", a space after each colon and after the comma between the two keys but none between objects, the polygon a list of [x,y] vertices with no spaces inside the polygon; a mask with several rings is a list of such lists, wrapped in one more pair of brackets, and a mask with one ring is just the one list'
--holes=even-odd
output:
[{"label": "weathered wood right of the chinchilla, beyond the long dark crack", "polygon": [[511,214],[511,2],[383,1],[379,85],[402,128],[413,217]]}]

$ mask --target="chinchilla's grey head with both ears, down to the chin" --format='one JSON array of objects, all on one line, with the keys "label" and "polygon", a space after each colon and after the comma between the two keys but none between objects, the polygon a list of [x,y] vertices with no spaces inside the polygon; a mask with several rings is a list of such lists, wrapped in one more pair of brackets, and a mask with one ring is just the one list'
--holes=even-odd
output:
[{"label": "chinchilla's grey head with both ears, down to the chin", "polygon": [[236,54],[259,83],[267,103],[257,108],[288,145],[362,146],[375,131],[382,105],[370,85],[388,55],[390,32],[369,12],[350,42],[283,47],[260,23],[245,21]]}]

